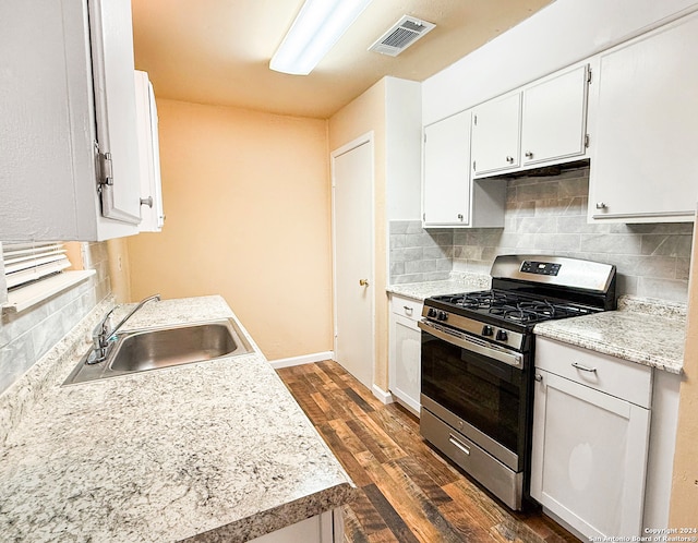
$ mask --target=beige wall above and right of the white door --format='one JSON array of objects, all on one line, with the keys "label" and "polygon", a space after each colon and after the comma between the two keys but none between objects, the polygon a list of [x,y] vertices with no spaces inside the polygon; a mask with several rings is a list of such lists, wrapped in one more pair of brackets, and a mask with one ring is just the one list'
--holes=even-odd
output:
[{"label": "beige wall above and right of the white door", "polygon": [[385,80],[373,85],[329,119],[329,149],[335,150],[357,137],[373,131],[374,171],[374,301],[375,301],[375,366],[373,382],[388,388],[388,305],[386,288],[386,108]]}]

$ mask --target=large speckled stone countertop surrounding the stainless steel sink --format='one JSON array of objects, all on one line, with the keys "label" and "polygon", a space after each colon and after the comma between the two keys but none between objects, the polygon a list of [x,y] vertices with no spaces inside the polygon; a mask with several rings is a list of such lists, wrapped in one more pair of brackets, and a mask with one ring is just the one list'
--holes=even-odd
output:
[{"label": "large speckled stone countertop surrounding the stainless steel sink", "polygon": [[[351,498],[244,330],[250,354],[62,387],[105,309],[0,397],[0,539],[246,541]],[[128,327],[231,316],[219,297],[166,300]]]}]

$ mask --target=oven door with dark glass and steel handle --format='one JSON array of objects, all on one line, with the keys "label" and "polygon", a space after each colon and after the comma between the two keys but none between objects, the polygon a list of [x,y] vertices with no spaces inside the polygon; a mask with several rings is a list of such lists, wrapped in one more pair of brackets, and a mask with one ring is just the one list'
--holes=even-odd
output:
[{"label": "oven door with dark glass and steel handle", "polygon": [[433,324],[422,329],[422,406],[515,472],[527,445],[525,355]]}]

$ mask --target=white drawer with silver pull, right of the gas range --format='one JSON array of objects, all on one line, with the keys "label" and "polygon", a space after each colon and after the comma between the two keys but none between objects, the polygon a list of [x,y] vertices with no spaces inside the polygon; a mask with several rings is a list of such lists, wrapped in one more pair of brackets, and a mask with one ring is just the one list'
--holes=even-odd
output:
[{"label": "white drawer with silver pull, right of the gas range", "polygon": [[650,408],[652,369],[649,366],[538,337],[535,367]]}]

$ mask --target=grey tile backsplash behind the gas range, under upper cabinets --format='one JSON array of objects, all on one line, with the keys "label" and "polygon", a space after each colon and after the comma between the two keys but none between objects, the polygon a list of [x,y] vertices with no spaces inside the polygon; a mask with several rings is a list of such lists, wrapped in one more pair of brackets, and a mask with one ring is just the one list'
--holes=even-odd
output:
[{"label": "grey tile backsplash behind the gas range, under upper cabinets", "polygon": [[[615,264],[617,292],[685,302],[693,224],[587,224],[589,168],[512,179],[504,228],[423,230],[392,221],[390,283],[490,274],[497,254],[555,254]],[[449,266],[450,265],[450,266]]]}]

